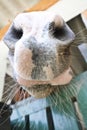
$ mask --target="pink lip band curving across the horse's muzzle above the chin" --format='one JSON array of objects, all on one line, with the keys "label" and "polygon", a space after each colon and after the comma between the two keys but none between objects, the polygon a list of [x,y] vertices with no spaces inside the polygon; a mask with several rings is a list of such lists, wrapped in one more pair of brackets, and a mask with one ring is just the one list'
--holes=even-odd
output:
[{"label": "pink lip band curving across the horse's muzzle above the chin", "polygon": [[69,68],[60,76],[56,77],[55,79],[51,81],[35,81],[35,80],[30,81],[30,80],[26,80],[18,76],[17,82],[26,87],[32,87],[32,85],[36,85],[36,84],[64,85],[64,84],[68,84],[71,81],[73,77],[72,75],[73,75],[72,70],[71,68]]}]

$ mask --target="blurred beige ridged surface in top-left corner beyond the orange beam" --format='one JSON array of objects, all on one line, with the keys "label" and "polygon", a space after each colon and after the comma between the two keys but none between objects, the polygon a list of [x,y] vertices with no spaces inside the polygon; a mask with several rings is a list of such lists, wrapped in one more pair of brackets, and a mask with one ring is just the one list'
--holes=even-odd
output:
[{"label": "blurred beige ridged surface in top-left corner beyond the orange beam", "polygon": [[40,0],[0,0],[0,29],[4,27],[14,17],[23,12]]}]

